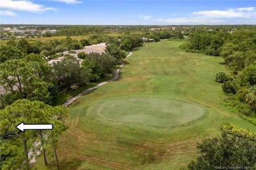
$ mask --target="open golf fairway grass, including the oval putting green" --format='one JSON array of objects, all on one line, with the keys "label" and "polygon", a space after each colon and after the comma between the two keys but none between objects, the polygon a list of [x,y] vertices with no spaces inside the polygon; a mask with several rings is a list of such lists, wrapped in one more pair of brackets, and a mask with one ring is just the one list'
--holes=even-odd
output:
[{"label": "open golf fairway grass, including the oval putting green", "polygon": [[[214,79],[226,71],[223,59],[184,53],[181,44],[140,47],[125,59],[119,79],[68,107],[60,169],[180,169],[196,158],[197,142],[221,133],[222,123],[256,131],[221,105]],[[49,162],[45,167],[39,158],[35,167],[56,169]]]}]

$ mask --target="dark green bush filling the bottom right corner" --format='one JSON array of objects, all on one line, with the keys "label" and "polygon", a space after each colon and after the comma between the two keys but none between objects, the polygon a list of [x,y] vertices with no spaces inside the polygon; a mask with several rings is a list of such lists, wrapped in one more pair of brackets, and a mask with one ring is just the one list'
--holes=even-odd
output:
[{"label": "dark green bush filling the bottom right corner", "polygon": [[256,144],[249,138],[223,132],[221,137],[204,139],[197,148],[200,156],[189,163],[190,170],[255,165]]}]

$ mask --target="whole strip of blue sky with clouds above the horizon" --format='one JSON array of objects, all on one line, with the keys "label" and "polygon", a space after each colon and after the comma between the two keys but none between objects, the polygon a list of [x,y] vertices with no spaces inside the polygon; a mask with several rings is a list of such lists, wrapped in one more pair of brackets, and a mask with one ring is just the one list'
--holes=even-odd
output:
[{"label": "whole strip of blue sky with clouds above the horizon", "polygon": [[256,24],[256,1],[0,0],[1,24]]}]

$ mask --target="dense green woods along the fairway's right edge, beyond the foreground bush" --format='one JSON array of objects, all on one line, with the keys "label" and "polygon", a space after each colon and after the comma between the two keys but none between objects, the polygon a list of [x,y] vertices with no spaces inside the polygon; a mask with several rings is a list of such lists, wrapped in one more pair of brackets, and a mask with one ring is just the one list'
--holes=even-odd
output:
[{"label": "dense green woods along the fairway's right edge, beyond the foreground bush", "polygon": [[225,104],[256,125],[256,30],[234,32],[196,31],[181,49],[224,58],[229,73],[218,72],[215,81],[223,83]]}]

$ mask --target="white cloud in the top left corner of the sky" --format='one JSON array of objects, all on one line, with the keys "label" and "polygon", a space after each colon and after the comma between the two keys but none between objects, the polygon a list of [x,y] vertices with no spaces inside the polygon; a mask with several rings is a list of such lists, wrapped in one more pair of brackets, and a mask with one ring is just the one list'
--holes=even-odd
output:
[{"label": "white cloud in the top left corner of the sky", "polygon": [[[12,1],[12,0],[1,0],[0,9],[11,10],[11,11],[27,11],[34,13],[42,13],[49,10],[56,10],[52,7],[45,7],[43,5],[35,4],[30,1]],[[11,12],[9,11],[9,12]]]}]

